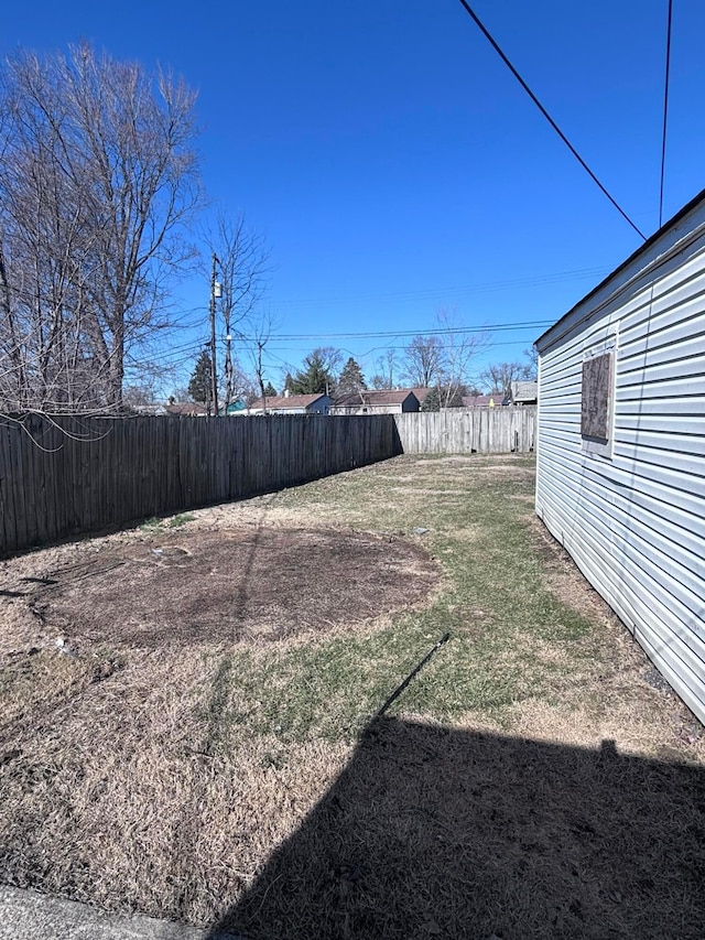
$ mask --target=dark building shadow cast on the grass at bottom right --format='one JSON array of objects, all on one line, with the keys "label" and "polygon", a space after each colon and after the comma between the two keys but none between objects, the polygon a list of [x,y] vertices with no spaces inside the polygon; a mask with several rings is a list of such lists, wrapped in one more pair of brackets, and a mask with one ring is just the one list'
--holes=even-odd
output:
[{"label": "dark building shadow cast on the grass at bottom right", "polygon": [[704,884],[702,769],[382,718],[210,936],[694,940]]}]

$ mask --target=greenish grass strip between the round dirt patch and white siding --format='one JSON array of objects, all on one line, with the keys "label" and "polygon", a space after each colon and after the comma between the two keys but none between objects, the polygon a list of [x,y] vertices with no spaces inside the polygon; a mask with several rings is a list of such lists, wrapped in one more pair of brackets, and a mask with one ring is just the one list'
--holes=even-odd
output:
[{"label": "greenish grass strip between the round dirt patch and white siding", "polygon": [[[499,464],[499,466],[498,466]],[[425,609],[377,630],[257,655],[228,669],[235,736],[282,742],[351,741],[446,631],[451,641],[414,678],[390,714],[447,722],[468,711],[494,716],[529,695],[550,695],[594,627],[551,592],[532,536],[533,461],[484,458],[457,466],[405,458],[288,490],[276,505],[315,512],[319,525],[417,538],[440,563],[445,590]],[[429,532],[414,537],[413,529]],[[220,677],[220,673],[217,673]],[[217,678],[217,681],[220,681]],[[229,710],[229,711],[228,711]]]}]

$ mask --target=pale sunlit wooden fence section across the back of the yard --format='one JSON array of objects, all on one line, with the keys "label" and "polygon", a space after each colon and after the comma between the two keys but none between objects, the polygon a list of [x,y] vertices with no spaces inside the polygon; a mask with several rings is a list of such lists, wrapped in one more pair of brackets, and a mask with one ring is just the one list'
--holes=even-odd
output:
[{"label": "pale sunlit wooden fence section across the back of the yard", "polygon": [[405,454],[527,454],[533,451],[535,406],[395,414]]}]

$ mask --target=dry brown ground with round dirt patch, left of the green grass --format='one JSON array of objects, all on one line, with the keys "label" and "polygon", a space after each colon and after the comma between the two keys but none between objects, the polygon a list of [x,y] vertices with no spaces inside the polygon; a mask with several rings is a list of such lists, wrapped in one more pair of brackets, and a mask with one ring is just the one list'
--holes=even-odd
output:
[{"label": "dry brown ground with round dirt patch, left of the green grass", "polygon": [[440,572],[268,501],[3,562],[0,878],[208,922],[323,796],[349,747],[252,730],[224,663],[380,629]]}]

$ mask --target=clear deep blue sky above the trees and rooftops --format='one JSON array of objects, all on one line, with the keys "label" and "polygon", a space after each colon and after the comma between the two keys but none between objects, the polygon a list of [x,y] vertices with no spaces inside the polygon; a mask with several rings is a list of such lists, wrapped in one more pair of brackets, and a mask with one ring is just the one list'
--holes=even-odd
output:
[{"label": "clear deep blue sky above the trees and rooftops", "polygon": [[[666,1],[473,6],[652,234]],[[675,0],[664,218],[705,186],[703,35],[705,4]],[[384,347],[431,329],[441,307],[468,327],[503,327],[485,359],[520,358],[541,324],[640,244],[458,0],[37,0],[3,11],[0,52],[82,37],[198,89],[205,185],[271,247],[275,386],[317,345],[355,355],[370,377]],[[171,359],[187,379],[206,336],[207,279],[184,284],[180,303],[192,326]],[[349,335],[361,333],[391,335]]]}]

